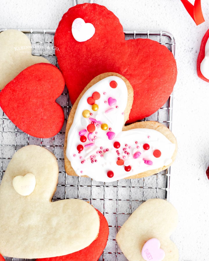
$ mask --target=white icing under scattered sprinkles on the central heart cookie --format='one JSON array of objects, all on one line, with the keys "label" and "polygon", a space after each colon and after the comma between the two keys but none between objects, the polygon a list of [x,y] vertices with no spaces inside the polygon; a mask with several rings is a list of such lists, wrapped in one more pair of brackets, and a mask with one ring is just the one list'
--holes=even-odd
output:
[{"label": "white icing under scattered sprinkles on the central heart cookie", "polygon": [[[111,88],[109,85],[111,81],[116,81],[118,86]],[[93,111],[91,105],[87,103],[87,98],[91,97],[94,92],[100,93],[100,99],[95,101],[95,104],[98,104],[97,111]],[[116,99],[116,104],[109,106],[107,102],[109,97]],[[121,131],[126,105],[127,87],[120,77],[110,76],[102,79],[84,93],[78,103],[73,124],[69,130],[66,147],[66,156],[77,175],[87,175],[96,181],[110,182],[157,169],[166,166],[165,163],[172,162],[171,157],[175,144],[172,144],[162,133],[146,128]],[[113,110],[105,113],[110,108]],[[99,119],[108,125],[107,130],[102,130],[101,124],[96,123],[96,129],[91,134],[91,137],[96,137],[93,142],[90,142],[88,138],[86,142],[81,142],[78,134],[83,129],[81,122],[84,118],[82,116],[84,110],[92,113],[90,118]],[[89,120],[89,118],[85,119]],[[91,120],[89,120],[89,124],[91,124]],[[115,133],[112,140],[108,139],[107,132],[109,131]],[[87,132],[85,136],[87,137],[88,134]],[[114,142],[119,142],[120,147],[114,148]],[[85,145],[89,143],[93,143],[93,146],[85,148]],[[148,150],[143,149],[145,143],[150,146]],[[80,153],[77,150],[79,144],[83,146]],[[158,158],[153,155],[153,151],[156,149],[161,151],[161,156]],[[140,152],[141,155],[134,159],[133,155],[136,152]],[[117,165],[118,158],[124,161],[122,165]],[[145,162],[152,163],[152,165],[145,164]],[[131,166],[131,170],[125,171],[125,166]],[[109,178],[108,171],[113,171],[114,176]]]}]

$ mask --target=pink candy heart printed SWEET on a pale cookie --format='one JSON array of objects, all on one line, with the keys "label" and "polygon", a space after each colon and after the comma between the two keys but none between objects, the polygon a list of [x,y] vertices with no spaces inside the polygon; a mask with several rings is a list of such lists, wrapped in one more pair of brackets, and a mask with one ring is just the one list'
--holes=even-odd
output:
[{"label": "pink candy heart printed SWEET on a pale cookie", "polygon": [[162,261],[165,257],[165,252],[160,248],[160,241],[157,238],[149,239],[142,248],[142,257],[149,261]]}]

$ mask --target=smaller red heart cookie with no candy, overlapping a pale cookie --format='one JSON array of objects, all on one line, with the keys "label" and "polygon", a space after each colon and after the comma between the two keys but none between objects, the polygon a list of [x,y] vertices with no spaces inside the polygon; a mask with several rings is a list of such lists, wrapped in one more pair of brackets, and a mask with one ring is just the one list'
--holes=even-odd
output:
[{"label": "smaller red heart cookie with no candy, overlapping a pale cookie", "polygon": [[[44,73],[42,73],[44,72]],[[0,92],[0,106],[22,131],[38,138],[56,135],[64,123],[62,107],[55,102],[64,79],[52,64],[29,66]]]}]

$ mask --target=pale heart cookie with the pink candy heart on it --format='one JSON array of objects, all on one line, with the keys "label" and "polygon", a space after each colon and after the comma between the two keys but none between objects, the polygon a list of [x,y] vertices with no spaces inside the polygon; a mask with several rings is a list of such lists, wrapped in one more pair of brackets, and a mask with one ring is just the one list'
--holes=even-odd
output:
[{"label": "pale heart cookie with the pink candy heart on it", "polygon": [[170,202],[149,199],[122,225],[116,241],[129,261],[178,261],[178,249],[170,240],[177,224],[178,213]]}]

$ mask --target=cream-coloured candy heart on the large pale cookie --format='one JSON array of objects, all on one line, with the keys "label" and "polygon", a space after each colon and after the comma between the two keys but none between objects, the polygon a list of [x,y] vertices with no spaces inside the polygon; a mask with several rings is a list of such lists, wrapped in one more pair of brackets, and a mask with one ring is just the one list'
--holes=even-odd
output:
[{"label": "cream-coloured candy heart on the large pale cookie", "polygon": [[27,173],[25,176],[16,176],[12,180],[15,191],[22,196],[30,195],[35,189],[35,184],[35,176],[32,173]]}]

